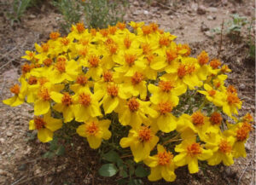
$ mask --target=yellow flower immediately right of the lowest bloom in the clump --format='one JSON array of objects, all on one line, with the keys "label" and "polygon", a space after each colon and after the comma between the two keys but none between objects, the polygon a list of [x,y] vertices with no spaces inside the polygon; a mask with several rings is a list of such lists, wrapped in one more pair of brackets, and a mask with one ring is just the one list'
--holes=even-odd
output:
[{"label": "yellow flower immediately right of the lowest bloom in the clump", "polygon": [[195,142],[195,135],[192,134],[184,138],[183,142],[175,147],[177,154],[173,161],[177,166],[188,165],[189,173],[199,171],[198,159],[206,160],[212,156],[211,150],[201,147],[200,143]]}]

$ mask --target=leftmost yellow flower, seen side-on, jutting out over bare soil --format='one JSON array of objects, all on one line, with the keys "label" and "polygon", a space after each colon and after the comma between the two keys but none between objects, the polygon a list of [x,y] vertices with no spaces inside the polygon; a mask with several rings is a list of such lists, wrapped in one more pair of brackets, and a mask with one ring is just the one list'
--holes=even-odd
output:
[{"label": "leftmost yellow flower, seen side-on, jutting out over bare soil", "polygon": [[18,84],[15,84],[13,87],[10,88],[10,91],[15,94],[15,96],[3,100],[3,103],[9,105],[10,107],[20,106],[25,101],[27,90],[27,83],[24,78],[21,78],[21,87]]}]

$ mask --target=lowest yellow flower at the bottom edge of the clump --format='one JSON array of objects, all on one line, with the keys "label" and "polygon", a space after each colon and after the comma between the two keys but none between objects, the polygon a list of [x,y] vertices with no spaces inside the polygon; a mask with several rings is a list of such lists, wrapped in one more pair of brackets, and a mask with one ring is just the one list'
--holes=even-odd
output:
[{"label": "lowest yellow flower at the bottom edge of the clump", "polygon": [[158,153],[154,156],[149,156],[143,162],[151,168],[149,181],[158,181],[164,178],[166,182],[173,182],[176,178],[174,173],[175,165],[173,162],[173,155],[171,152],[160,144],[157,145]]}]

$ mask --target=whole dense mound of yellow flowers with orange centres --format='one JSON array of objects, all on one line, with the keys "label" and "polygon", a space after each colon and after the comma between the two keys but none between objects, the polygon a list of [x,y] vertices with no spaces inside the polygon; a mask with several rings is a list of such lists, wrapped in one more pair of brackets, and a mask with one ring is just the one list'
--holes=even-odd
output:
[{"label": "whole dense mound of yellow flowers with orange centres", "polygon": [[20,85],[3,103],[33,105],[29,129],[41,142],[76,122],[79,136],[98,148],[115,137],[114,127],[126,128],[116,144],[150,167],[150,181],[172,182],[183,165],[196,173],[198,160],[232,165],[246,157],[253,118],[237,117],[241,100],[224,84],[230,68],[206,51],[191,57],[188,44],[155,23],[129,25],[132,31],[119,22],[101,30],[78,23],[67,37],[51,32],[26,51]]}]

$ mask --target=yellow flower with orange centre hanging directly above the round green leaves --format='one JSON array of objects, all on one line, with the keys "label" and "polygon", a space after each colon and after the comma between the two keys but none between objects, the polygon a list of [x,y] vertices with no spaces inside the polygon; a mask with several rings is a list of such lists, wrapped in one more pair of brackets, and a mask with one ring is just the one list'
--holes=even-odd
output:
[{"label": "yellow flower with orange centre hanging directly above the round green leaves", "polygon": [[79,136],[86,137],[90,147],[96,149],[101,146],[102,139],[108,140],[111,137],[111,132],[108,130],[110,123],[107,119],[89,119],[79,125],[77,133]]}]

